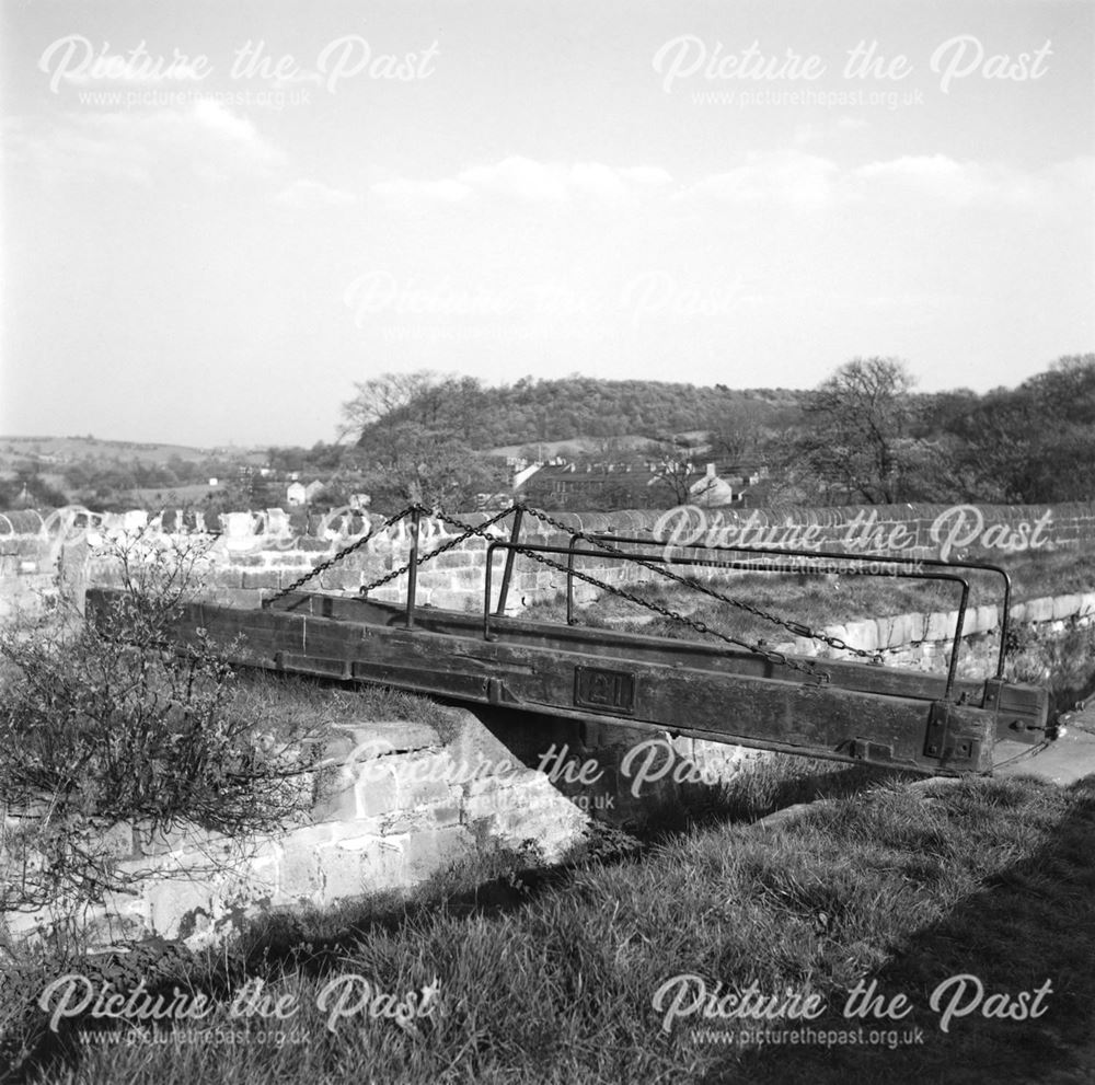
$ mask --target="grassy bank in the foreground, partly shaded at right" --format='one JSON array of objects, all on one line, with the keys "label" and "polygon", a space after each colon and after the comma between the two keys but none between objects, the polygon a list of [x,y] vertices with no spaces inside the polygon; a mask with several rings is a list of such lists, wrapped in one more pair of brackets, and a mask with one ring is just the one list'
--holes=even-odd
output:
[{"label": "grassy bank in the foreground, partly shaded at right", "polygon": [[[766,805],[763,788],[750,804]],[[516,861],[453,872],[417,903],[255,931],[159,974],[212,994],[204,1038],[178,1027],[149,1042],[85,1015],[62,1021],[30,1080],[1091,1080],[1095,781],[889,780],[780,827],[734,820],[741,812],[728,796],[721,817],[637,852],[591,853],[539,878]],[[484,873],[492,885],[471,889]],[[256,981],[292,1007],[285,1021],[233,1016]],[[328,1028],[332,991],[350,982],[368,982],[371,1001]],[[701,985],[713,1001],[698,1002]],[[865,1009],[848,1005],[856,990],[874,999]],[[731,1016],[724,996],[749,991],[756,1013]],[[391,1015],[414,1004],[408,992],[433,1008],[401,1026]],[[796,1006],[822,1008],[804,1020]],[[81,1038],[96,1026],[119,1039]]]}]

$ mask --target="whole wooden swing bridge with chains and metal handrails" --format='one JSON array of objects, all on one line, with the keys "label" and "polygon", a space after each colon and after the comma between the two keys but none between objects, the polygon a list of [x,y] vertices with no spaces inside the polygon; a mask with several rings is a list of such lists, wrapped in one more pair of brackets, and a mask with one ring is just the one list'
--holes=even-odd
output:
[{"label": "whole wooden swing bridge with chains and metal handrails", "polygon": [[[427,516],[459,533],[423,553],[419,527]],[[522,532],[527,518],[564,534],[567,542],[528,541]],[[307,590],[322,573],[404,521],[411,550],[400,568],[366,585],[356,596]],[[419,568],[473,536],[486,541],[482,611],[417,603]],[[496,554],[503,555],[497,581]],[[506,614],[518,557],[552,570],[565,582],[565,622]],[[607,557],[637,565],[657,582],[715,600],[854,658],[776,650],[711,628],[581,567],[584,561]],[[698,566],[727,574],[786,575],[788,558],[794,559],[797,574],[831,573],[837,563],[841,576],[885,575],[950,586],[958,605],[946,673],[879,666],[879,653],[848,645],[735,598],[722,582],[715,587],[687,575]],[[959,678],[958,661],[970,576],[977,572],[1002,579],[1003,604],[994,671],[973,680]],[[406,577],[403,603],[369,598],[370,591],[401,576]],[[683,636],[696,634],[699,638],[583,626],[575,603],[575,587],[580,582],[597,589],[602,598],[621,597],[653,612],[679,627]],[[117,595],[113,589],[89,590],[89,612],[110,605]],[[675,736],[925,774],[988,774],[1044,748],[1053,737],[1048,691],[1004,678],[1010,599],[1007,573],[996,565],[699,543],[672,556],[654,539],[573,531],[523,505],[479,526],[410,505],[265,599],[261,609],[192,602],[183,608],[174,632],[184,644],[199,630],[221,643],[242,634],[244,653],[232,661],[279,673],[379,683],[471,705],[618,720]]]}]

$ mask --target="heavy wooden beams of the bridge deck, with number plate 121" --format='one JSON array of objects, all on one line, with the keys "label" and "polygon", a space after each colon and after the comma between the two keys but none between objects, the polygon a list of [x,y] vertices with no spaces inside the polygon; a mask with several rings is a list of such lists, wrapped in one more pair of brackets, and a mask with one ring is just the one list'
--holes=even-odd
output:
[{"label": "heavy wooden beams of the bridge deck, with number plate 121", "polygon": [[[113,595],[89,591],[90,610]],[[237,662],[285,673],[932,774],[991,772],[998,747],[1041,740],[1048,716],[1045,690],[995,680],[948,697],[941,676],[422,607],[408,627],[406,608],[311,592],[265,610],[192,603],[176,635],[198,628],[243,634]]]}]

